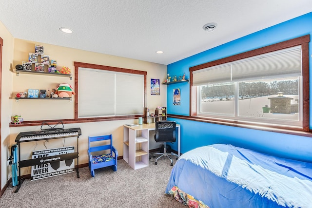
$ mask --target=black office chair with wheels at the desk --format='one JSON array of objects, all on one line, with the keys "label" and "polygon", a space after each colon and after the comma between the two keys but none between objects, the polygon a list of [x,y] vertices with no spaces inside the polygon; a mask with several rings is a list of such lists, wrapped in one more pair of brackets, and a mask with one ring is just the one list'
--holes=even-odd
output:
[{"label": "black office chair with wheels at the desk", "polygon": [[175,153],[167,153],[166,148],[166,142],[176,142],[176,122],[175,121],[157,121],[156,123],[156,129],[155,129],[155,141],[156,142],[163,142],[164,144],[164,152],[156,152],[153,154],[153,158],[155,158],[155,155],[160,155],[157,157],[155,161],[155,165],[157,165],[157,161],[159,158],[165,156],[168,157],[171,160],[171,166],[173,166],[172,159],[169,155],[176,156],[176,159],[178,158],[178,155]]}]

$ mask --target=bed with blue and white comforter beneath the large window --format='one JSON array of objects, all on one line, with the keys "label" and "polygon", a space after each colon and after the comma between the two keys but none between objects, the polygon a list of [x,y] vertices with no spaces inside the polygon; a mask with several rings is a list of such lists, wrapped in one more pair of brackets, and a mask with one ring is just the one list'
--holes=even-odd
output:
[{"label": "bed with blue and white comforter beneath the large window", "polygon": [[181,155],[166,188],[200,208],[312,208],[312,163],[215,144]]}]

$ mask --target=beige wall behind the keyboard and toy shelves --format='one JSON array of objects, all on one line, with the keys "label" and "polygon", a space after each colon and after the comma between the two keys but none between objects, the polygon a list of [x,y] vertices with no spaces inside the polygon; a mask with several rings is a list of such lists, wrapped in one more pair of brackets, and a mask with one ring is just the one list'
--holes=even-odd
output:
[{"label": "beige wall behind the keyboard and toy shelves", "polygon": [[[0,28],[1,29],[1,28]],[[3,38],[3,37],[2,37]],[[11,37],[12,38],[12,37]],[[74,61],[92,63],[113,67],[120,67],[126,69],[134,69],[147,72],[147,106],[150,109],[155,109],[157,106],[166,106],[167,99],[167,89],[166,85],[160,86],[161,95],[151,95],[150,91],[150,81],[151,78],[160,79],[163,81],[166,78],[167,66],[140,61],[124,57],[116,57],[104,54],[98,54],[83,50],[71,49],[67,47],[61,47],[51,44],[45,44],[40,42],[27,41],[22,39],[14,39],[14,44],[11,44],[11,51],[14,45],[14,57],[13,64],[10,67],[15,71],[15,65],[21,64],[22,61],[28,60],[28,53],[34,53],[35,44],[44,46],[44,54],[49,55],[50,59],[57,60],[58,66],[67,66],[71,69],[74,75]],[[10,60],[10,58],[8,58]],[[5,66],[3,71],[9,71],[9,67]],[[5,73],[4,73],[5,74]],[[16,76],[15,73],[7,73],[3,76],[3,79],[10,78],[13,79],[13,84],[10,87],[4,87],[2,85],[2,103],[8,103],[8,112],[4,113],[2,110],[2,126],[8,126],[10,122],[11,115],[21,115],[21,117],[26,121],[28,120],[50,120],[50,119],[72,119],[74,118],[74,101],[69,100],[19,100],[15,101],[15,94],[18,92],[25,92],[29,88],[31,89],[46,89],[51,90],[56,88],[59,83],[69,83],[73,87],[75,85],[74,79],[70,80],[68,77],[59,76],[42,76],[42,75],[28,75],[20,74]],[[3,83],[2,83],[3,84]],[[3,91],[5,93],[3,94]],[[11,97],[9,99],[9,97]],[[75,99],[75,98],[74,98]],[[3,105],[2,105],[3,109]],[[3,117],[5,116],[5,117]],[[4,119],[3,119],[4,118]],[[119,156],[123,155],[123,130],[122,125],[126,123],[137,122],[136,120],[118,120],[118,121],[105,121],[105,122],[91,122],[91,123],[78,123],[78,124],[66,124],[65,128],[76,128],[80,127],[82,135],[79,137],[79,164],[84,164],[88,162],[87,148],[88,148],[88,136],[113,134],[113,145],[117,148]],[[4,124],[4,125],[3,125]],[[30,127],[12,127],[7,130],[10,133],[10,145],[15,143],[15,138],[19,132],[27,131],[38,131],[40,126],[30,126]],[[4,138],[2,138],[3,140]],[[47,148],[55,148],[63,145],[65,146],[75,145],[75,139],[64,140],[50,140],[49,142],[37,142],[23,144],[21,148],[21,157],[29,158],[31,152],[36,150]],[[76,146],[76,145],[75,145]],[[7,146],[2,147],[6,149]],[[3,154],[6,150],[3,150]],[[5,154],[4,154],[5,155]],[[6,156],[2,158],[2,171],[6,174]],[[5,163],[5,164],[3,164]],[[23,168],[21,174],[30,174],[31,167]],[[7,177],[2,174],[2,185],[6,183]]]}]

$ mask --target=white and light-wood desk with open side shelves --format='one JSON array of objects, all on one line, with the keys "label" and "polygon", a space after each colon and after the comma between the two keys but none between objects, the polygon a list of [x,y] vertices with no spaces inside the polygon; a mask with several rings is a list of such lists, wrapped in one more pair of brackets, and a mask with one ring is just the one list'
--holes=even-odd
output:
[{"label": "white and light-wood desk with open side shelves", "polygon": [[[149,132],[155,123],[138,126],[123,126],[123,159],[135,170],[148,166]],[[177,155],[180,156],[180,125],[176,124]],[[154,138],[153,138],[154,139]]]}]

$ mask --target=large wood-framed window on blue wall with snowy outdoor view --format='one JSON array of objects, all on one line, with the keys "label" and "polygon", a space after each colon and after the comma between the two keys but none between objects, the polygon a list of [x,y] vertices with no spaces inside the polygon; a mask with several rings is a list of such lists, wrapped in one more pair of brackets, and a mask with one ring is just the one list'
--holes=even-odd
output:
[{"label": "large wood-framed window on blue wall with snowy outdoor view", "polygon": [[233,124],[306,129],[309,55],[307,45],[293,44],[298,39],[190,68],[191,115]]}]

